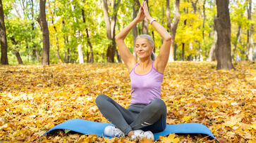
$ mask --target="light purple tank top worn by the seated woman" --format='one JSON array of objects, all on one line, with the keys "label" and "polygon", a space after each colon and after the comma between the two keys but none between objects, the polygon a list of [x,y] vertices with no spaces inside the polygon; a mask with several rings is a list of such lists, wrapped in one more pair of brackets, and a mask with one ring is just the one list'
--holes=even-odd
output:
[{"label": "light purple tank top worn by the seated woman", "polygon": [[[135,64],[135,67],[139,63]],[[147,74],[136,74],[135,67],[130,71],[130,87],[131,87],[131,100],[130,104],[150,104],[152,100],[161,97],[161,82],[164,79],[164,74],[161,74],[153,67]]]}]

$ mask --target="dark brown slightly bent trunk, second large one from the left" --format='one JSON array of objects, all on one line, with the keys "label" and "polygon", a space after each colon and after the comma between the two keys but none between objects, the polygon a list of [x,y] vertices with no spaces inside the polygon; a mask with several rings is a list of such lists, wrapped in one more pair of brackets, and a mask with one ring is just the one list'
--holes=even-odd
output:
[{"label": "dark brown slightly bent trunk, second large one from the left", "polygon": [[49,62],[49,51],[50,51],[49,29],[47,25],[46,14],[45,14],[45,2],[46,0],[40,0],[39,16],[37,18],[37,22],[39,23],[42,30],[43,50],[42,50],[41,64],[43,65],[50,64]]}]

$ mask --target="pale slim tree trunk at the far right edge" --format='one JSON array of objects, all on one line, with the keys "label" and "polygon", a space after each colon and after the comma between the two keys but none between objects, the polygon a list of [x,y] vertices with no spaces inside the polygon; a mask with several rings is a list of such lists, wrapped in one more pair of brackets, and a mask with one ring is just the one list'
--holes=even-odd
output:
[{"label": "pale slim tree trunk at the far right edge", "polygon": [[[248,20],[252,20],[252,0],[247,0],[248,4]],[[253,23],[250,24],[250,29],[248,29],[248,44],[246,50],[246,60],[253,60]]]}]

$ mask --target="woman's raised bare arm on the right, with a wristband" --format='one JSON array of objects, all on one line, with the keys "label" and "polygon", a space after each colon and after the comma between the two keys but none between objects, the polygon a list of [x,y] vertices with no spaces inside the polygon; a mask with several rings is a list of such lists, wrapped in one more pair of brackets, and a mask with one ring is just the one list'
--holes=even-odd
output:
[{"label": "woman's raised bare arm on the right, with a wristband", "polygon": [[[142,8],[147,18],[147,21],[150,22],[150,20],[152,20],[152,17],[150,16],[150,13],[148,11],[147,3],[144,1],[142,2]],[[169,59],[169,53],[171,48],[171,35],[157,21],[154,20],[152,22],[152,25],[154,29],[156,29],[157,32],[161,35],[161,37],[164,39],[163,44],[161,45],[159,51],[159,55],[157,56],[157,59],[154,61],[154,68],[157,69],[157,71],[164,73],[164,69]]]}]

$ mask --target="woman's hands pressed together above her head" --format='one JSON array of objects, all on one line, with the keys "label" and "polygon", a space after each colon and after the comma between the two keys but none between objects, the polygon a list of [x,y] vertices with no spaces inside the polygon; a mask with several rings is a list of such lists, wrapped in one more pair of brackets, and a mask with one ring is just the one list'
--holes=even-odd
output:
[{"label": "woman's hands pressed together above her head", "polygon": [[142,1],[140,10],[139,10],[139,13],[138,13],[136,19],[138,20],[138,22],[140,22],[140,21],[144,20],[145,18],[149,22],[152,19],[150,16],[150,12],[148,11],[148,8],[147,8],[147,1]]}]

